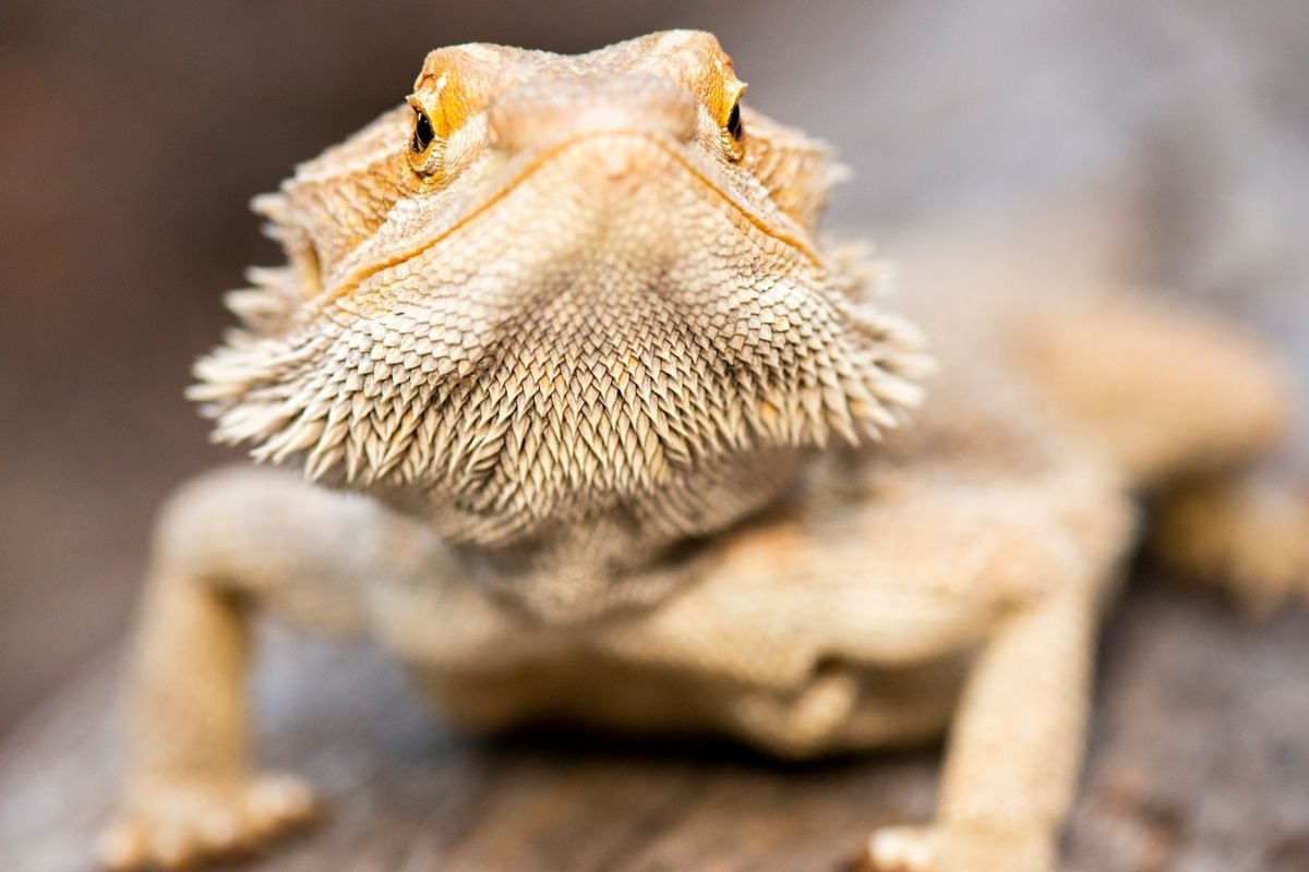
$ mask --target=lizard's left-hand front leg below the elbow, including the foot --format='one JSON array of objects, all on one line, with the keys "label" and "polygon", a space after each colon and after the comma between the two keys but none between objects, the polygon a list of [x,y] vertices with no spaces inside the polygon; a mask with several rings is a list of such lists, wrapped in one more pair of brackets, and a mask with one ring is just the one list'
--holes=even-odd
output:
[{"label": "lizard's left-hand front leg below the elbow, including the foot", "polygon": [[175,567],[149,582],[130,702],[123,811],[101,838],[111,869],[181,867],[306,822],[302,782],[251,769],[246,608]]}]

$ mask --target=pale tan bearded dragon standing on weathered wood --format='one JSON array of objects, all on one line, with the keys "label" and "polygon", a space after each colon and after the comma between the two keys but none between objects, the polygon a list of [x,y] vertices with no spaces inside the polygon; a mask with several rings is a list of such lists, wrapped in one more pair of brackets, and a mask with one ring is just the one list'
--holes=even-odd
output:
[{"label": "pale tan bearded dragon standing on weathered wood", "polygon": [[944,735],[935,820],[863,862],[1045,872],[1141,499],[1246,601],[1309,587],[1309,506],[1251,484],[1291,407],[1262,344],[980,261],[893,295],[819,234],[827,146],[744,92],[700,31],[440,48],[254,200],[287,263],[190,396],[263,465],[160,512],[106,868],[314,818],[247,736],[267,614],[378,639],[467,728]]}]

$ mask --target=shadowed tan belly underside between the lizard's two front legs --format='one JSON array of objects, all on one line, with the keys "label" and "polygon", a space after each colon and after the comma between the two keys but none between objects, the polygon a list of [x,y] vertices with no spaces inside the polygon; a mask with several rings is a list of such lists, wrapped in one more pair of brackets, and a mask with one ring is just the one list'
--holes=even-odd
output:
[{"label": "shadowed tan belly underside between the lizard's two front legs", "polygon": [[708,638],[664,631],[662,611],[542,628],[462,584],[382,588],[374,600],[386,614],[377,633],[421,693],[473,729],[725,735],[784,757],[920,743],[944,729],[969,660],[877,665],[732,614]]}]

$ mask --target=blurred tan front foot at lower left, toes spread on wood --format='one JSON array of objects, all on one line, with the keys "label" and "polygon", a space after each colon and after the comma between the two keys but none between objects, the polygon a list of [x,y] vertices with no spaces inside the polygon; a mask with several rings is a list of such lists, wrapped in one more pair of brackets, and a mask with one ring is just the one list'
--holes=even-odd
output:
[{"label": "blurred tan front foot at lower left, toes spread on wood", "polygon": [[297,778],[263,774],[237,786],[140,786],[101,833],[101,865],[111,872],[182,869],[238,856],[309,824],[319,803]]}]

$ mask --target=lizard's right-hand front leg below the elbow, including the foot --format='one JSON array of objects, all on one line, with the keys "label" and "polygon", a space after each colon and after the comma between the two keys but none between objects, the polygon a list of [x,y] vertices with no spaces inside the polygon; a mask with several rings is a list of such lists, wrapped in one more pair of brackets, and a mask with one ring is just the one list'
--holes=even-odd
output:
[{"label": "lizard's right-hand front leg below the elbow, including the foot", "polygon": [[874,869],[1055,868],[1083,756],[1094,599],[1092,586],[1059,590],[995,629],[956,715],[937,822],[876,833]]}]

